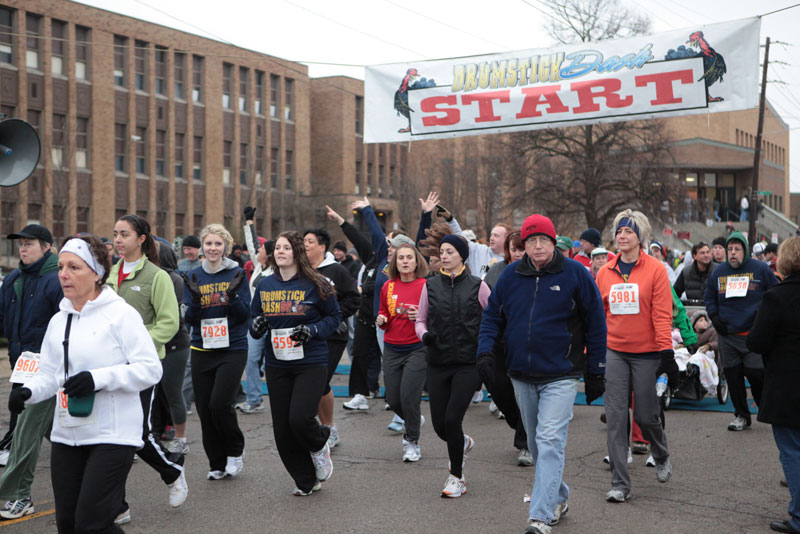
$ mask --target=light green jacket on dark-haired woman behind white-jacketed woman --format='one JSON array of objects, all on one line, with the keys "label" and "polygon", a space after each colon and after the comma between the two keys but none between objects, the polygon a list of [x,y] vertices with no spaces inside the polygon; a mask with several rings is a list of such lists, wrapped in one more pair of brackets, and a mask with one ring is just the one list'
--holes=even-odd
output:
[{"label": "light green jacket on dark-haired woman behind white-jacketed woman", "polygon": [[166,271],[143,257],[118,287],[119,270],[123,263],[124,260],[120,259],[111,267],[106,283],[142,316],[158,351],[158,357],[163,360],[166,355],[164,345],[175,336],[180,325],[175,286]]}]

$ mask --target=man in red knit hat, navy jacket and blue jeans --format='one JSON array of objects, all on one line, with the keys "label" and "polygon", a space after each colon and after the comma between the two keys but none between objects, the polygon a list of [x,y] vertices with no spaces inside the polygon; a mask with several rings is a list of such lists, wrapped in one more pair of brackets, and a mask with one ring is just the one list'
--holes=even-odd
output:
[{"label": "man in red knit hat, navy jacket and blue jeans", "polygon": [[578,381],[584,377],[587,403],[605,388],[606,322],[589,272],[556,252],[550,219],[531,215],[520,237],[525,255],[500,275],[484,310],[477,366],[490,383],[492,347],[503,335],[508,374],[536,465],[526,532],[549,534],[568,509],[564,449]]}]

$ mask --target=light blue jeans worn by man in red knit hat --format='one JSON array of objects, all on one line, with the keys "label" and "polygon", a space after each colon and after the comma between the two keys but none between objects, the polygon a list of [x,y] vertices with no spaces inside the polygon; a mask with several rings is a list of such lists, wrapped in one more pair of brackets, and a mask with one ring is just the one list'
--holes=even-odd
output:
[{"label": "light blue jeans worn by man in red knit hat", "polygon": [[569,487],[562,480],[564,449],[578,379],[528,384],[512,378],[511,383],[536,466],[528,518],[550,523],[556,506],[569,498]]}]

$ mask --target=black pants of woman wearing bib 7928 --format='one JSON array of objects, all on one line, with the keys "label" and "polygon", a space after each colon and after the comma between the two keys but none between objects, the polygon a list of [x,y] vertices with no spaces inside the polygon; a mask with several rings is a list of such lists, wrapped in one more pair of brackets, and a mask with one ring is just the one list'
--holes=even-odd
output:
[{"label": "black pants of woman wearing bib 7928", "polygon": [[224,471],[228,456],[241,456],[244,452],[244,434],[233,405],[245,363],[246,350],[192,349],[194,402],[203,431],[203,449],[212,471]]}]

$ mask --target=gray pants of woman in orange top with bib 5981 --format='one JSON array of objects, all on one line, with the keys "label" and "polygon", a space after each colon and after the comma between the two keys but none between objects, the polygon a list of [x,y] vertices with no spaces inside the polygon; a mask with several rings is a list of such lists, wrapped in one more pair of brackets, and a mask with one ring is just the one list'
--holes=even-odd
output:
[{"label": "gray pants of woman in orange top with bib 5981", "polygon": [[[648,353],[655,354],[657,353]],[[611,458],[611,487],[625,493],[631,491],[628,473],[628,407],[633,390],[633,418],[650,442],[650,453],[656,463],[669,458],[667,435],[661,426],[661,406],[656,395],[656,371],[660,359],[642,358],[640,354],[606,353],[606,421],[608,455]]]}]

